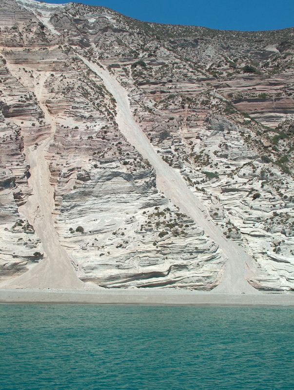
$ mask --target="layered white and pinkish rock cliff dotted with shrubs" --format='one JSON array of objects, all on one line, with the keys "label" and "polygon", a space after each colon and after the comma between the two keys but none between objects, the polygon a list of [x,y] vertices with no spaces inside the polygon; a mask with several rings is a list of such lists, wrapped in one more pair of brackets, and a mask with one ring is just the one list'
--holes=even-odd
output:
[{"label": "layered white and pinkish rock cliff dotted with shrubs", "polygon": [[232,34],[3,1],[2,286],[294,289],[293,30]]}]

